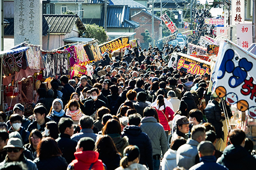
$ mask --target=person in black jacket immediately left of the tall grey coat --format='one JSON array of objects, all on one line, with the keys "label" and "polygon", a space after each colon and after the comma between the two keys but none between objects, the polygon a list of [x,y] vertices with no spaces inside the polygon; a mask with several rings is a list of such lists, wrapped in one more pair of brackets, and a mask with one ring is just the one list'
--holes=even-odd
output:
[{"label": "person in black jacket immediately left of the tall grey coat", "polygon": [[153,150],[150,138],[140,129],[141,118],[138,114],[129,116],[129,126],[123,129],[122,137],[129,138],[129,144],[137,145],[140,149],[140,164],[148,166],[148,169],[153,170]]}]

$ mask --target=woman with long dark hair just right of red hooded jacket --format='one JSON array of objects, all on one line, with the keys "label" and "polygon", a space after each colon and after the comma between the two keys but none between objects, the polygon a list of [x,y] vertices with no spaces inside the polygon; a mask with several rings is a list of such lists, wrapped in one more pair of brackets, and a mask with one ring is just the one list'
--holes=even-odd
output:
[{"label": "woman with long dark hair just right of red hooded jacket", "polygon": [[119,166],[121,158],[110,136],[101,136],[96,142],[95,151],[99,153],[99,159],[108,170],[114,170]]}]

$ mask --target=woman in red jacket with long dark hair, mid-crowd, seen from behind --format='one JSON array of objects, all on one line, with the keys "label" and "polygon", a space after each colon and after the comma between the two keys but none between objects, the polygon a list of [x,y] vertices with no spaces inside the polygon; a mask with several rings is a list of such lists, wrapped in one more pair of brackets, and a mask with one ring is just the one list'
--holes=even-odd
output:
[{"label": "woman in red jacket with long dark hair, mid-crowd, seen from behind", "polygon": [[166,137],[168,139],[168,133],[170,132],[170,126],[168,122],[173,120],[174,111],[169,106],[165,105],[164,96],[162,94],[157,96],[157,105],[154,106],[154,108],[157,110],[160,124],[163,126]]}]

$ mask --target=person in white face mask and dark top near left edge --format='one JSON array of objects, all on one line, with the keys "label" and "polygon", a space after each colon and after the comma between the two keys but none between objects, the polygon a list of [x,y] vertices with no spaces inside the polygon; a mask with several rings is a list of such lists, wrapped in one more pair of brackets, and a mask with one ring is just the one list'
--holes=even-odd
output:
[{"label": "person in white face mask and dark top near left edge", "polygon": [[23,143],[27,144],[29,142],[30,133],[22,127],[22,117],[18,114],[12,114],[10,116],[10,124],[11,128],[9,129],[9,133],[17,131],[20,136],[22,136]]}]

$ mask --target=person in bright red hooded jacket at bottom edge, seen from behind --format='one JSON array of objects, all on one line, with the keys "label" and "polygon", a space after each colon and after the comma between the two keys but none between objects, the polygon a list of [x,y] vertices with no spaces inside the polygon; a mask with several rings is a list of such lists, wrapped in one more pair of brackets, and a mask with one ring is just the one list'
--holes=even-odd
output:
[{"label": "person in bright red hooded jacket at bottom edge, seen from behind", "polygon": [[93,151],[95,147],[94,140],[90,137],[82,137],[76,146],[75,160],[73,160],[68,170],[103,170],[102,161],[99,158],[99,153]]}]

